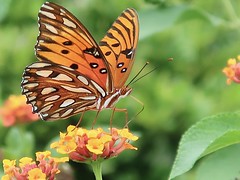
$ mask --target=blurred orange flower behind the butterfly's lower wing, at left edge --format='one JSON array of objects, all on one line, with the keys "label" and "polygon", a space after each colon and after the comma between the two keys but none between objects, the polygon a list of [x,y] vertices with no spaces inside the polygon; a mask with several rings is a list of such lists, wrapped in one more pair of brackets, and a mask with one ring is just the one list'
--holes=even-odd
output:
[{"label": "blurred orange flower behind the butterfly's lower wing, at left edge", "polygon": [[3,107],[0,107],[0,116],[6,127],[39,119],[37,114],[32,113],[32,107],[26,104],[26,98],[23,95],[9,96]]}]

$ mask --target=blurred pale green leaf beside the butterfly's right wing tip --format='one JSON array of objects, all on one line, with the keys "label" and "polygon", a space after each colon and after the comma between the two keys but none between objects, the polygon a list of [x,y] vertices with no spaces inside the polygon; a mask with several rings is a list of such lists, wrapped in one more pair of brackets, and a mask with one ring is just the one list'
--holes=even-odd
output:
[{"label": "blurred pale green leaf beside the butterfly's right wing tip", "polygon": [[177,22],[191,19],[206,21],[215,26],[224,22],[224,20],[206,11],[188,5],[174,6],[166,9],[148,9],[139,12],[139,17],[141,24],[140,39],[171,28]]}]

